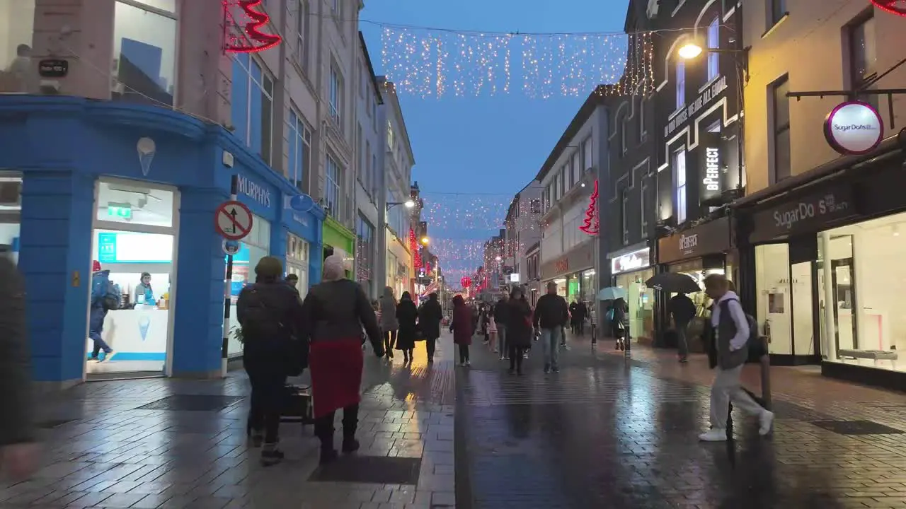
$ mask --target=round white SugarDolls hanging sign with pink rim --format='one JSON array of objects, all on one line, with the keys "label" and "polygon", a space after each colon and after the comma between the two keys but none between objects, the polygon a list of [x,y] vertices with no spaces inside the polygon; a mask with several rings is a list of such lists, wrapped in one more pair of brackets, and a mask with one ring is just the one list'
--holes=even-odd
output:
[{"label": "round white SugarDolls hanging sign with pink rim", "polygon": [[846,101],[831,110],[824,120],[824,138],[844,156],[867,154],[884,139],[884,122],[871,104]]}]

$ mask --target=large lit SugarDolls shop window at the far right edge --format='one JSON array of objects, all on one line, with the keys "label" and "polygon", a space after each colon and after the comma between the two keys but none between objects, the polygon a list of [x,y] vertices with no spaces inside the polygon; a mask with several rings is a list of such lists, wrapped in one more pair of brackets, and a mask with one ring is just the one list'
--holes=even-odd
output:
[{"label": "large lit SugarDolls shop window at the far right edge", "polygon": [[[901,234],[901,231],[903,232]],[[817,291],[828,360],[906,370],[906,214],[843,226],[818,236]]]}]

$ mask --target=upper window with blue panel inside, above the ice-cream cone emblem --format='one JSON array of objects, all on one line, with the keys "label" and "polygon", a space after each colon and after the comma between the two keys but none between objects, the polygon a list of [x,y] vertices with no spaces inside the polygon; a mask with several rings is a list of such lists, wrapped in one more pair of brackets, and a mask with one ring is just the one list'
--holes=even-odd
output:
[{"label": "upper window with blue panel inside, above the ice-cream cone emblem", "polygon": [[176,3],[116,2],[111,99],[173,106],[176,90]]}]

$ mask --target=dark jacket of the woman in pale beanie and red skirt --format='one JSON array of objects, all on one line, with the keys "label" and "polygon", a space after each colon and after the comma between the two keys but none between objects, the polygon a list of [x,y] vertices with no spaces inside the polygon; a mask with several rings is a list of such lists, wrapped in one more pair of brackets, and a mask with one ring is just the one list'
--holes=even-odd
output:
[{"label": "dark jacket of the woman in pale beanie and red skirt", "polygon": [[303,315],[306,335],[311,342],[361,341],[361,328],[364,327],[374,353],[383,354],[377,316],[359,283],[341,279],[316,284],[305,295]]}]

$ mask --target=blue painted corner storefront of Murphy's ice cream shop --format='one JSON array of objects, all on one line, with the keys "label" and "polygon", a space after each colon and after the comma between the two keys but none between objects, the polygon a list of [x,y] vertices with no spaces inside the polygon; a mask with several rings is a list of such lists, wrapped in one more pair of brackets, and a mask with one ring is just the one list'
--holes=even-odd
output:
[{"label": "blue painted corner storefront of Murphy's ice cream shop", "polygon": [[[142,137],[156,143],[147,175],[136,149]],[[233,168],[224,165],[224,151],[234,156]],[[98,178],[179,189],[174,376],[220,370],[225,265],[214,211],[229,197],[234,173],[239,200],[271,224],[271,255],[284,259],[287,234],[304,238],[314,254],[310,283],[320,280],[323,213],[289,209],[295,188],[219,125],[120,102],[0,95],[0,168],[23,173],[19,268],[35,379],[82,379]]]}]

